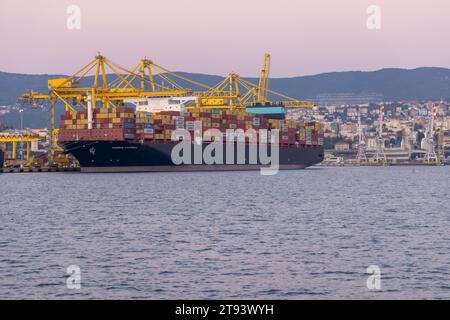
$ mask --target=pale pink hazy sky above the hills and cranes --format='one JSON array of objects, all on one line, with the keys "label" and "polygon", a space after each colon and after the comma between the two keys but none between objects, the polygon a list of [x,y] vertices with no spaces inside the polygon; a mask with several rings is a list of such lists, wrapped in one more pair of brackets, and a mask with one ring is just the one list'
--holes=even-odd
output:
[{"label": "pale pink hazy sky above the hills and cranes", "polygon": [[[66,26],[69,5],[81,29]],[[381,8],[381,30],[366,25]],[[449,0],[0,0],[0,71],[73,73],[98,51],[130,68],[273,76],[450,68]]]}]

